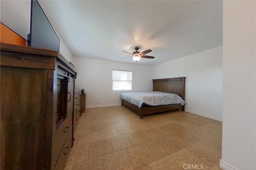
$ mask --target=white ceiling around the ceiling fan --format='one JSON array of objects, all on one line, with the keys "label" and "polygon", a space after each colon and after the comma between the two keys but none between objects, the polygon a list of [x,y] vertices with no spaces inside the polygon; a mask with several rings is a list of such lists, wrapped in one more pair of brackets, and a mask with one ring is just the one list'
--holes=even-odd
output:
[{"label": "white ceiling around the ceiling fan", "polygon": [[75,57],[156,65],[222,45],[222,1],[40,1]]}]

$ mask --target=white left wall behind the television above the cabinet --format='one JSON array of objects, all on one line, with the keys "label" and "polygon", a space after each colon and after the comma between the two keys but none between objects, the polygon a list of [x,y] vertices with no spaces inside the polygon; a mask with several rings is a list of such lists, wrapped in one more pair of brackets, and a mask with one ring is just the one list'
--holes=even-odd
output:
[{"label": "white left wall behind the television above the cabinet", "polygon": [[[39,2],[40,3],[40,2]],[[41,6],[42,7],[42,6]],[[24,39],[27,39],[30,33],[30,0],[1,0],[0,1],[1,22],[18,33]],[[44,10],[44,8],[42,7]],[[46,14],[47,16],[47,14]],[[56,31],[58,34],[58,32]],[[60,53],[67,61],[72,61],[72,55],[60,35]]]}]

